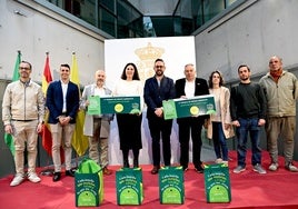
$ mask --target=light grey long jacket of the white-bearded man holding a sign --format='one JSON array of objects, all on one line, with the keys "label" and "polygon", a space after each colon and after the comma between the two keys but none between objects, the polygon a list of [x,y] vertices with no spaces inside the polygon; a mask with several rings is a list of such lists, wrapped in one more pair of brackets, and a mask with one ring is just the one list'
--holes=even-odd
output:
[{"label": "light grey long jacket of the white-bearded man holding a sign", "polygon": [[[87,111],[88,107],[86,107],[86,101],[90,96],[95,96],[96,84],[86,86],[82,91],[82,100],[80,103],[80,108]],[[106,94],[111,94],[111,90],[103,88]],[[110,133],[110,120],[112,120],[113,115],[102,115],[101,118],[101,126],[100,126],[100,137],[108,138]],[[85,123],[83,123],[83,135],[92,137],[93,136],[93,116],[88,113],[85,115]]]}]

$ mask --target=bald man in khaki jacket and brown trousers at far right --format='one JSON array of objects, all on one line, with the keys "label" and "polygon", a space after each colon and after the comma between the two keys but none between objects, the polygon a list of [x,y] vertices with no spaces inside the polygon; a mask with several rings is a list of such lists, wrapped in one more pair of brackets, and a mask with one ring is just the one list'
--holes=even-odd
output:
[{"label": "bald man in khaki jacket and brown trousers at far right", "polygon": [[295,74],[282,69],[281,58],[269,59],[269,72],[260,79],[268,102],[266,126],[267,142],[271,163],[269,170],[276,171],[278,165],[278,138],[284,142],[285,168],[297,172],[292,165],[294,142],[296,132],[296,100],[298,81]]}]

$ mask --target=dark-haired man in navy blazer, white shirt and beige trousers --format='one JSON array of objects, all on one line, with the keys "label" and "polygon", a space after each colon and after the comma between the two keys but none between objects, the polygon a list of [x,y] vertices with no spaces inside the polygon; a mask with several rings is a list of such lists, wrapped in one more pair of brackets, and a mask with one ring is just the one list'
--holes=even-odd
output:
[{"label": "dark-haired man in navy blazer, white shirt and beige trousers", "polygon": [[53,181],[61,178],[60,147],[64,149],[66,175],[73,177],[71,170],[71,138],[79,109],[79,88],[69,80],[69,64],[60,66],[60,80],[49,84],[47,90],[47,108],[52,133],[52,161],[54,166]]}]

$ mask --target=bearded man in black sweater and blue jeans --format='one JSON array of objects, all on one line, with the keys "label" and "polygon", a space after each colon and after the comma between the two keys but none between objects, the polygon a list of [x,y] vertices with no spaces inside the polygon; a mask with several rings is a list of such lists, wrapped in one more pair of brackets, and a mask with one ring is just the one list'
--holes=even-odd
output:
[{"label": "bearded man in black sweater and blue jeans", "polygon": [[250,74],[251,72],[247,64],[239,66],[238,76],[240,78],[240,83],[231,89],[230,112],[238,139],[238,166],[234,169],[234,172],[240,173],[246,170],[246,146],[249,133],[254,171],[264,175],[266,173],[266,170],[261,167],[259,133],[261,126],[266,123],[267,103],[262,88],[259,83],[250,81]]}]

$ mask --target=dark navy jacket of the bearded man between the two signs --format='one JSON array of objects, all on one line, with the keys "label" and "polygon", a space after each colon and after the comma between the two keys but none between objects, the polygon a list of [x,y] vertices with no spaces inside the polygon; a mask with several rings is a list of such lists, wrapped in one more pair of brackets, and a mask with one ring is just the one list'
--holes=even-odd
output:
[{"label": "dark navy jacket of the bearded man between the two signs", "polygon": [[160,81],[160,87],[156,77],[147,79],[143,88],[143,99],[148,107],[147,118],[156,118],[156,108],[162,107],[162,100],[175,99],[175,96],[172,79],[165,76]]}]

